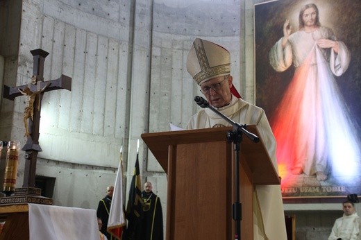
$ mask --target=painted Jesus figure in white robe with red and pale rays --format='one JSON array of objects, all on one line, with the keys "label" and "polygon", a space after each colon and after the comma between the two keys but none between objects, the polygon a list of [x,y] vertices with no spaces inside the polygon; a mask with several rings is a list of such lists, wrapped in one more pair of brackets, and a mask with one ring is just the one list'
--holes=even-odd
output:
[{"label": "painted Jesus figure in white robe with red and pale rays", "polygon": [[352,176],[359,171],[360,148],[355,127],[334,76],[348,69],[351,54],[330,28],[321,26],[313,3],[299,13],[299,31],[286,19],[283,37],[269,51],[276,71],[292,64],[294,76],[271,123],[277,140],[278,166],[292,174]]}]

